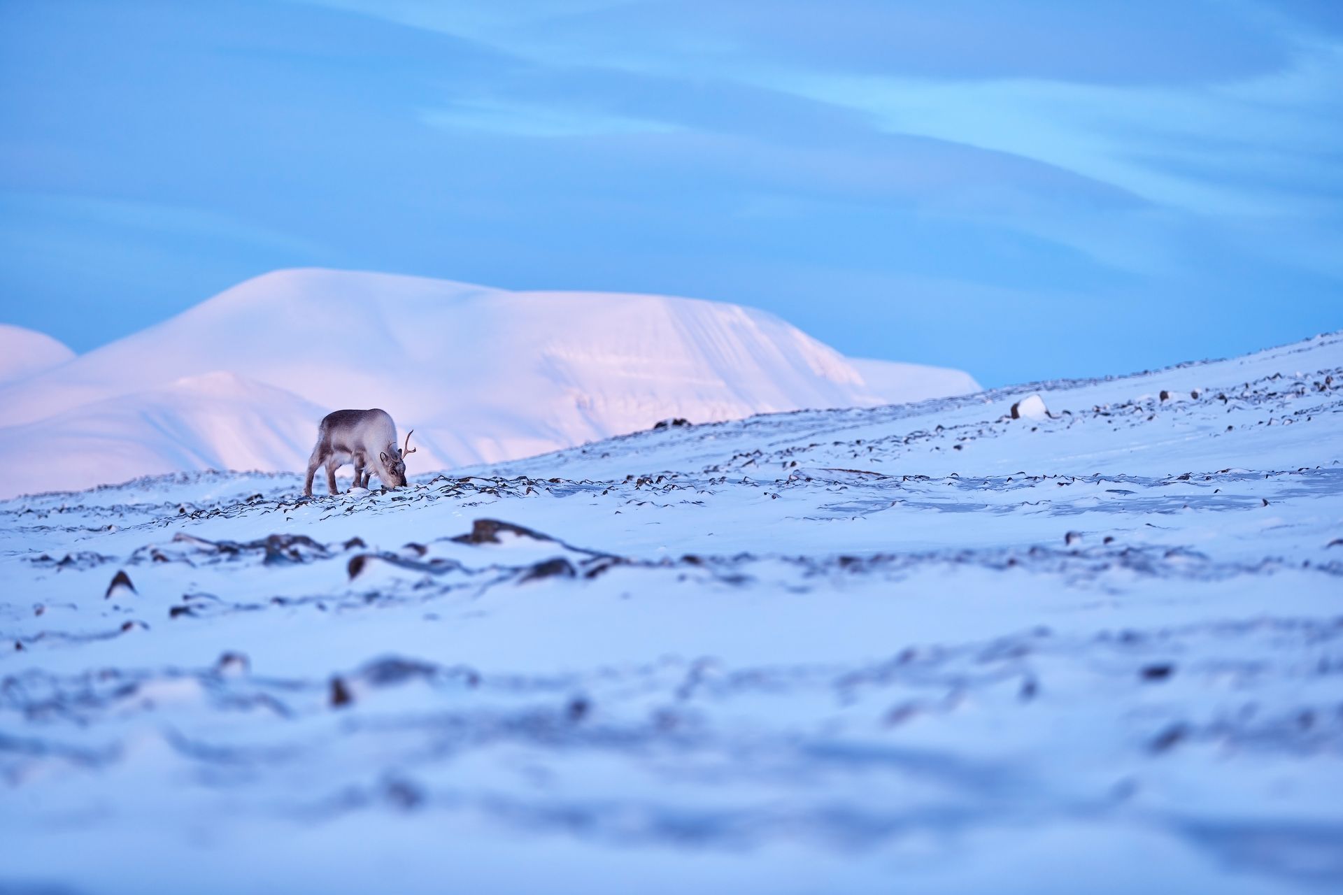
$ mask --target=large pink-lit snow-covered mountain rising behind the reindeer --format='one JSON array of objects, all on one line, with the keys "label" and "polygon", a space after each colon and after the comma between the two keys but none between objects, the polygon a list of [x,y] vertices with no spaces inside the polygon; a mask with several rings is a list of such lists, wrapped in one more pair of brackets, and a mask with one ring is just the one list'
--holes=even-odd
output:
[{"label": "large pink-lit snow-covered mountain rising behind the reindeer", "polygon": [[[0,388],[0,496],[172,468],[298,470],[317,420],[381,407],[415,429],[420,470],[498,462],[645,429],[975,390],[968,376],[842,356],[764,311],[685,298],[510,293],[388,274],[290,270]],[[188,399],[200,377],[269,386]],[[248,386],[251,388],[251,386]],[[175,400],[164,399],[172,389]],[[255,389],[254,389],[255,392]],[[894,397],[893,397],[894,396]],[[189,417],[189,419],[188,419]],[[244,435],[274,432],[259,443]],[[36,424],[40,429],[34,429]],[[17,427],[17,428],[15,428]],[[27,428],[23,428],[27,427]],[[31,433],[63,462],[34,471]],[[304,433],[298,437],[295,433]],[[133,444],[144,441],[142,462]],[[110,460],[109,444],[120,445]]]}]

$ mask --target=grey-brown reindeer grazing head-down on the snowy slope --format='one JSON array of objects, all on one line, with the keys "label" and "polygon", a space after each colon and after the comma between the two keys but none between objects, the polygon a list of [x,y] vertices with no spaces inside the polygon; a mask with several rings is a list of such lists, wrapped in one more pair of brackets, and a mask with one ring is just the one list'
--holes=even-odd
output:
[{"label": "grey-brown reindeer grazing head-down on the snowy slope", "polygon": [[317,447],[308,458],[308,480],[304,496],[313,496],[313,475],[326,466],[326,487],[336,494],[336,470],[355,464],[355,484],[368,487],[369,475],[377,474],[384,488],[406,484],[406,458],[418,448],[411,447],[411,429],[406,433],[406,447],[396,447],[396,424],[387,411],[336,411],[328,413],[317,427]]}]

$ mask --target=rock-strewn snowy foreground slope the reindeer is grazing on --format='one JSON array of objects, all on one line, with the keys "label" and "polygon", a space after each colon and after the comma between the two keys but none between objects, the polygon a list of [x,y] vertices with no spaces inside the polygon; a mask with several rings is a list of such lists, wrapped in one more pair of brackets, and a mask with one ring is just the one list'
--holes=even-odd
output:
[{"label": "rock-strewn snowy foreground slope the reindeer is grazing on", "polygon": [[1338,891],[1340,445],[1332,334],[4,502],[0,890]]}]

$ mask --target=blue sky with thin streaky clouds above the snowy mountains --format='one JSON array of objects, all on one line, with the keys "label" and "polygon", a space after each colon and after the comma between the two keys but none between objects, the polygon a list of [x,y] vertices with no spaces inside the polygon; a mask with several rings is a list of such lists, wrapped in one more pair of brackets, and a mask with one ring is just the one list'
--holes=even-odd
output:
[{"label": "blue sky with thin streaky clouds above the snowy mountains", "polygon": [[1334,0],[0,0],[0,319],[277,267],[764,307],[984,384],[1343,326]]}]

